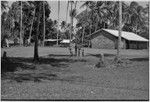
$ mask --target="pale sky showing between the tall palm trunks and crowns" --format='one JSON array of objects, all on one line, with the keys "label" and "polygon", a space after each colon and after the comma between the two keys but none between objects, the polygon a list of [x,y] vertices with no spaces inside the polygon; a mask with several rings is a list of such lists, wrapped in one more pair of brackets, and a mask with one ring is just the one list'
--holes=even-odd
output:
[{"label": "pale sky showing between the tall palm trunks and crowns", "polygon": [[[12,2],[14,1],[8,1],[9,5],[12,4]],[[130,3],[130,1],[126,1],[127,3]],[[51,7],[51,14],[50,14],[50,18],[52,20],[58,20],[58,1],[48,1],[50,7]],[[142,2],[142,1],[138,1],[138,3],[142,6],[146,6],[147,2]],[[81,5],[83,4],[83,2],[78,2],[77,3],[77,14],[79,14],[80,12],[82,12],[85,8],[80,8]],[[67,9],[67,1],[61,1],[60,2],[60,22],[61,21],[65,21],[66,20],[66,9]],[[70,7],[69,7],[70,9]],[[70,22],[70,17],[69,17],[69,13],[68,13],[68,17],[67,17],[67,23]],[[76,24],[76,19],[74,19],[74,25]]]}]

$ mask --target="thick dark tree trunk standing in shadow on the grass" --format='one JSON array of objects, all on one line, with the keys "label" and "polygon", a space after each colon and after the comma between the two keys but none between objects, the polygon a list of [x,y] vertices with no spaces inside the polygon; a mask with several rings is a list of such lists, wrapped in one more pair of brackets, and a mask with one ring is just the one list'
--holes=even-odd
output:
[{"label": "thick dark tree trunk standing in shadow on the grass", "polygon": [[[39,11],[41,10],[41,5],[39,5]],[[40,25],[40,16],[41,14],[39,12],[38,13],[38,20],[37,20],[37,29],[36,29],[36,33],[35,33],[35,37],[34,37],[34,61],[39,61],[39,55],[38,55],[38,35],[39,35],[39,25]]]}]

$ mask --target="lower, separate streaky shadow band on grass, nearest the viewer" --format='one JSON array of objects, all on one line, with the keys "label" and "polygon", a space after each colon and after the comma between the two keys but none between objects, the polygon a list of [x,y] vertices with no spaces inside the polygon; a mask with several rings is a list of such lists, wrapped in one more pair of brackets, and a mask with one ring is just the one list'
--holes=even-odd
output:
[{"label": "lower, separate streaky shadow band on grass, nearest the viewer", "polygon": [[6,74],[5,80],[11,80],[16,82],[42,82],[42,81],[61,81],[61,82],[82,82],[84,79],[82,76],[66,76],[59,77],[52,73],[13,73]]}]

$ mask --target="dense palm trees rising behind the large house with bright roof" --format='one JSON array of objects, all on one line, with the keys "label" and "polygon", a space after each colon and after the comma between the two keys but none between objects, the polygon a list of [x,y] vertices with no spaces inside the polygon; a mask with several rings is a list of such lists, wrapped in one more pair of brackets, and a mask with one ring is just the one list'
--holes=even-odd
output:
[{"label": "dense palm trees rising behind the large house with bright roof", "polygon": [[[90,35],[101,28],[119,29],[119,1],[86,1],[81,7],[86,7],[76,16],[76,27],[82,27],[81,34]],[[149,39],[148,11],[148,4],[142,7],[136,1],[122,2],[122,30]]]}]

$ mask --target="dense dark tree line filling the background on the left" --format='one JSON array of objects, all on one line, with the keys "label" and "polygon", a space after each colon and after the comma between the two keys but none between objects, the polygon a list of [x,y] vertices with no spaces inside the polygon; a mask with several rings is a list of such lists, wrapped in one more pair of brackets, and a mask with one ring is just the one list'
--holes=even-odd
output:
[{"label": "dense dark tree line filling the background on the left", "polygon": [[[47,1],[44,1],[44,3],[39,1],[16,1],[12,3],[11,7],[8,6],[7,1],[1,1],[1,10],[2,41],[5,38],[12,40],[18,38],[20,41],[20,38],[22,38],[23,45],[26,44],[28,39],[34,42],[38,23],[40,28],[38,38],[41,42],[44,38],[56,39],[58,32],[60,32],[59,39],[69,39],[71,24],[62,21],[61,30],[58,31],[58,21],[50,18],[51,8]],[[40,16],[39,20],[38,16]],[[43,18],[45,18],[45,24]],[[45,27],[43,27],[44,25]],[[43,37],[44,34],[45,37]]]}]

